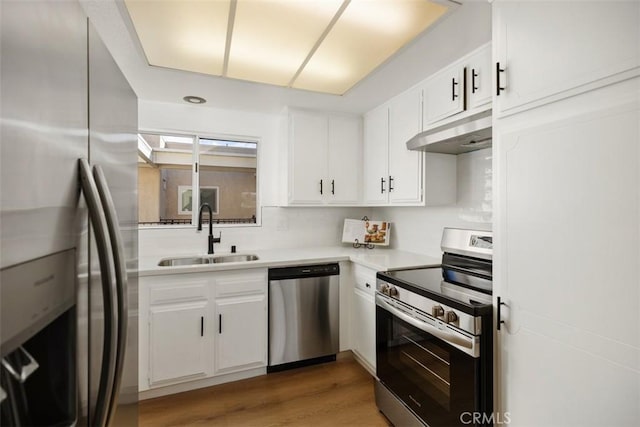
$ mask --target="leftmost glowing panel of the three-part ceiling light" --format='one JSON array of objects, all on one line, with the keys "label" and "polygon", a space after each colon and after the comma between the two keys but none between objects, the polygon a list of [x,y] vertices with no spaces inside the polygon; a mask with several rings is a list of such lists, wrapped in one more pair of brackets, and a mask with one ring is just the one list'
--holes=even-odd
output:
[{"label": "leftmost glowing panel of the three-part ceiling light", "polygon": [[221,75],[229,0],[125,0],[150,65]]}]

